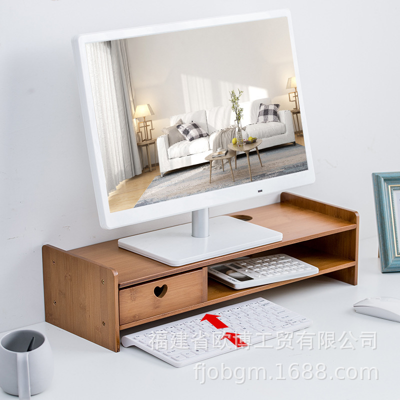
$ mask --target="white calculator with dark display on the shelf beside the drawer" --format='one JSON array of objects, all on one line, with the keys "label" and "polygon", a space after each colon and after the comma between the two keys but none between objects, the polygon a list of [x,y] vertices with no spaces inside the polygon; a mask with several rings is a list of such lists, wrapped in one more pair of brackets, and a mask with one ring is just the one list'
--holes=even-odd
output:
[{"label": "white calculator with dark display on the shelf beside the drawer", "polygon": [[236,259],[208,267],[208,275],[234,289],[314,275],[319,269],[287,254]]}]

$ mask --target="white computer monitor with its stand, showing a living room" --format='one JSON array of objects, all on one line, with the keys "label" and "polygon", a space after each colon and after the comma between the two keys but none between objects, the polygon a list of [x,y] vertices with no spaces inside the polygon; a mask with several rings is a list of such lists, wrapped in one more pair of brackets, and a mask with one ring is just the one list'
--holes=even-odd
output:
[{"label": "white computer monitor with its stand, showing a living room", "polygon": [[[115,55],[115,51],[118,51],[115,44],[121,43],[122,39],[126,39],[123,40],[124,48],[121,53]],[[236,218],[219,216],[208,220],[208,208],[279,192],[314,180],[301,80],[288,10],[80,34],[72,39],[72,45],[101,226],[112,229],[192,211],[192,224],[124,238],[118,242],[121,247],[168,265],[182,265],[281,240],[279,232]],[[105,71],[104,78],[102,64],[107,62],[110,62],[111,69]],[[116,73],[122,75],[123,79],[129,76],[129,95],[126,94],[126,87],[111,87],[115,82],[110,84],[108,80],[113,80]],[[287,89],[286,84],[290,86],[288,79],[291,77],[296,78],[296,87]],[[126,85],[126,80],[124,84]],[[197,160],[193,165],[166,173],[161,171],[162,173],[155,176],[148,186],[148,182],[144,186],[137,183],[137,188],[143,186],[140,192],[145,197],[143,201],[134,201],[119,208],[110,206],[110,190],[114,189],[115,184],[123,183],[126,179],[123,178],[123,173],[122,178],[115,176],[118,175],[115,173],[111,178],[113,182],[110,183],[109,164],[119,162],[113,160],[113,155],[126,149],[120,149],[120,146],[123,146],[120,142],[108,142],[107,138],[104,142],[104,134],[111,135],[120,129],[133,128],[133,132],[128,131],[126,134],[131,139],[128,139],[129,146],[133,146],[134,151],[129,148],[126,153],[133,157],[131,162],[136,164],[139,154],[141,170],[148,159],[143,150],[150,150],[152,154],[155,145],[143,145],[146,141],[143,129],[140,136],[137,134],[138,127],[134,125],[137,121],[141,122],[141,118],[133,118],[135,106],[147,103],[151,105],[154,115],[147,117],[147,120],[151,118],[152,138],[161,136],[161,128],[169,126],[173,118],[176,120],[179,115],[186,115],[186,118],[191,119],[199,110],[205,110],[205,119],[199,117],[201,120],[193,122],[198,122],[204,130],[213,130],[217,123],[215,120],[210,123],[209,115],[215,117],[217,114],[218,117],[219,112],[226,119],[226,109],[231,105],[229,91],[235,90],[237,93],[238,89],[243,91],[240,97],[241,104],[252,115],[252,120],[245,121],[247,124],[256,122],[259,107],[257,101],[265,99],[279,103],[280,111],[289,110],[285,114],[286,125],[283,127],[283,133],[285,129],[301,130],[301,145],[293,145],[294,142],[288,141],[260,150],[264,156],[268,154],[269,158],[276,161],[275,170],[272,162],[267,167],[268,173],[262,172],[252,176],[252,180],[248,176],[248,179],[236,179],[233,182],[226,163],[224,183],[210,185],[210,165],[207,160],[201,158],[200,163]],[[123,95],[130,97],[123,101]],[[127,105],[129,102],[130,107]],[[110,110],[115,104],[119,107],[119,112],[125,114],[126,127],[121,128],[112,120],[113,113],[118,112]],[[124,108],[122,111],[121,104]],[[295,112],[290,111],[296,107],[298,109]],[[104,112],[108,113],[107,118],[104,117]],[[279,115],[283,117],[282,112]],[[118,119],[119,116],[115,118]],[[229,123],[234,124],[234,117]],[[221,126],[218,126],[217,130],[220,131],[220,128]],[[211,137],[215,132],[207,133]],[[226,142],[224,147],[227,147]],[[294,150],[291,148],[296,148],[295,159],[292,158]],[[212,152],[211,146],[208,150],[209,153]],[[203,156],[202,153],[201,157]],[[154,155],[152,157],[154,158]],[[159,154],[156,154],[155,158],[158,157]],[[125,162],[125,155],[120,158],[123,159],[122,163]],[[240,170],[248,172],[248,162],[244,153],[241,157],[238,156],[238,159],[241,160],[241,165],[233,170],[233,176]],[[279,160],[288,160],[287,165]],[[155,161],[150,155],[149,164]],[[139,181],[146,176],[150,165],[143,169],[145,172],[138,171],[137,175],[127,179],[135,184],[135,179]],[[134,166],[132,168],[134,169]],[[190,173],[187,173],[188,170]],[[214,172],[213,179],[217,173],[220,174],[221,171]],[[176,174],[180,175],[173,180]],[[119,182],[119,179],[122,180]],[[193,185],[194,179],[201,181],[201,184]],[[191,185],[188,182],[191,182]],[[148,195],[154,192],[157,192],[156,196]]]}]

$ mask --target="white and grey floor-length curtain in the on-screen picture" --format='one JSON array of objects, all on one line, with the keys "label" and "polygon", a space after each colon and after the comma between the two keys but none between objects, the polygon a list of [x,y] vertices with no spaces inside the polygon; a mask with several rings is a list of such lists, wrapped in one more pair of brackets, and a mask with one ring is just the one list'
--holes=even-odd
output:
[{"label": "white and grey floor-length curtain in the on-screen picture", "polygon": [[124,40],[86,44],[107,193],[141,173]]}]

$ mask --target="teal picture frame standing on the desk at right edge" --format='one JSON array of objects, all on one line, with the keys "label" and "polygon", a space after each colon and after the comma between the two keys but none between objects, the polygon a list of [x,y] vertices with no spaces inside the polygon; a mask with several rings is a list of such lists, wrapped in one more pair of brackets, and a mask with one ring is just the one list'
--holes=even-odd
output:
[{"label": "teal picture frame standing on the desk at right edge", "polygon": [[372,173],[382,272],[400,271],[400,172]]}]

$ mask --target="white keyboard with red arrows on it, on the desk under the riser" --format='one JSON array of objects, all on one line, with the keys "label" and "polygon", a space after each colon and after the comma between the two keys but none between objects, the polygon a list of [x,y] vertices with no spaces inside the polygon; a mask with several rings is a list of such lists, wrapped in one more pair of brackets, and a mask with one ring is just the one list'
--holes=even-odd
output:
[{"label": "white keyboard with red arrows on it, on the desk under the riser", "polygon": [[[205,315],[213,316],[204,319]],[[184,366],[310,324],[308,318],[258,297],[122,336],[121,343]]]}]

